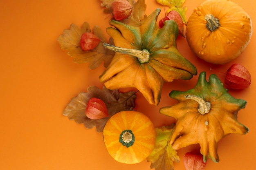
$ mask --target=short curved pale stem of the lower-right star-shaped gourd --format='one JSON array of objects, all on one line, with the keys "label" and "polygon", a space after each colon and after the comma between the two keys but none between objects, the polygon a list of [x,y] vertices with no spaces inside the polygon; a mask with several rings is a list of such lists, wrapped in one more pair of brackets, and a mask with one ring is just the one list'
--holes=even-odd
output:
[{"label": "short curved pale stem of the lower-right star-shaped gourd", "polygon": [[199,103],[198,112],[201,115],[205,113],[209,113],[211,110],[211,102],[205,102],[204,99],[195,95],[186,95],[184,96],[186,99],[192,99]]}]

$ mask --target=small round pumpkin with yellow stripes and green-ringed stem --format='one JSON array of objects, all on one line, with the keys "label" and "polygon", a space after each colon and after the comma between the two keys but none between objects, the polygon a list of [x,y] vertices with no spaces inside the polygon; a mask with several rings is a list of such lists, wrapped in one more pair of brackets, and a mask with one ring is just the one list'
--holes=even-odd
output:
[{"label": "small round pumpkin with yellow stripes and green-ringed stem", "polygon": [[143,113],[135,110],[121,111],[107,121],[103,139],[108,153],[116,161],[139,163],[155,147],[155,128]]}]

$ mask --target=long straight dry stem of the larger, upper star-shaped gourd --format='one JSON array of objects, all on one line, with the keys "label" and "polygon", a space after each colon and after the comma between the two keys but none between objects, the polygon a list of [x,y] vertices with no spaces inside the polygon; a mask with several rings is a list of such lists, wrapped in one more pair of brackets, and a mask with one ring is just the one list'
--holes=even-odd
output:
[{"label": "long straight dry stem of the larger, upper star-shaped gourd", "polygon": [[125,49],[125,48],[122,48],[122,47],[107,44],[105,42],[103,43],[103,46],[106,47],[107,49],[111,50],[111,51],[115,51],[115,52],[118,52],[118,53],[129,54],[129,55],[135,56],[135,57],[138,58],[138,60],[141,64],[146,63],[149,60],[150,53],[146,49],[142,49],[142,50]]}]

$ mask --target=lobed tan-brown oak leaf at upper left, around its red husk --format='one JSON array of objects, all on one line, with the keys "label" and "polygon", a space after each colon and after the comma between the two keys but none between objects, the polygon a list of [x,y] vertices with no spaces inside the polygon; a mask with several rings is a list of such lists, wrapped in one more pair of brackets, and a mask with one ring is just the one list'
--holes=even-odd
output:
[{"label": "lobed tan-brown oak leaf at upper left, around its red husk", "polygon": [[[58,37],[58,43],[61,45],[61,49],[67,50],[67,55],[74,57],[75,63],[89,63],[90,69],[97,68],[102,62],[104,62],[104,66],[107,67],[115,52],[110,51],[103,47],[103,43],[107,42],[104,36],[103,31],[99,26],[94,26],[93,33],[101,42],[92,50],[83,51],[81,49],[80,40],[81,35],[85,32],[91,32],[90,25],[88,22],[84,22],[82,28],[79,28],[76,24],[71,24],[70,29],[66,29],[63,31],[63,35]],[[112,39],[110,39],[110,44],[114,44]]]}]

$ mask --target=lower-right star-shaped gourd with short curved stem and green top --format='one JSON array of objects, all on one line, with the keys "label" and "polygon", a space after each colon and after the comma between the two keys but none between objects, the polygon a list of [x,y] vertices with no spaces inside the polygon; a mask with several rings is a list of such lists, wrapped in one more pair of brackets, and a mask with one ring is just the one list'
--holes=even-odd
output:
[{"label": "lower-right star-shaped gourd with short curved stem and green top", "polygon": [[170,97],[179,103],[160,108],[159,112],[174,117],[175,131],[170,140],[174,149],[200,144],[204,162],[218,162],[217,144],[231,133],[246,134],[248,128],[237,120],[238,111],[246,101],[232,97],[215,74],[199,75],[195,88],[182,92],[171,91]]}]

